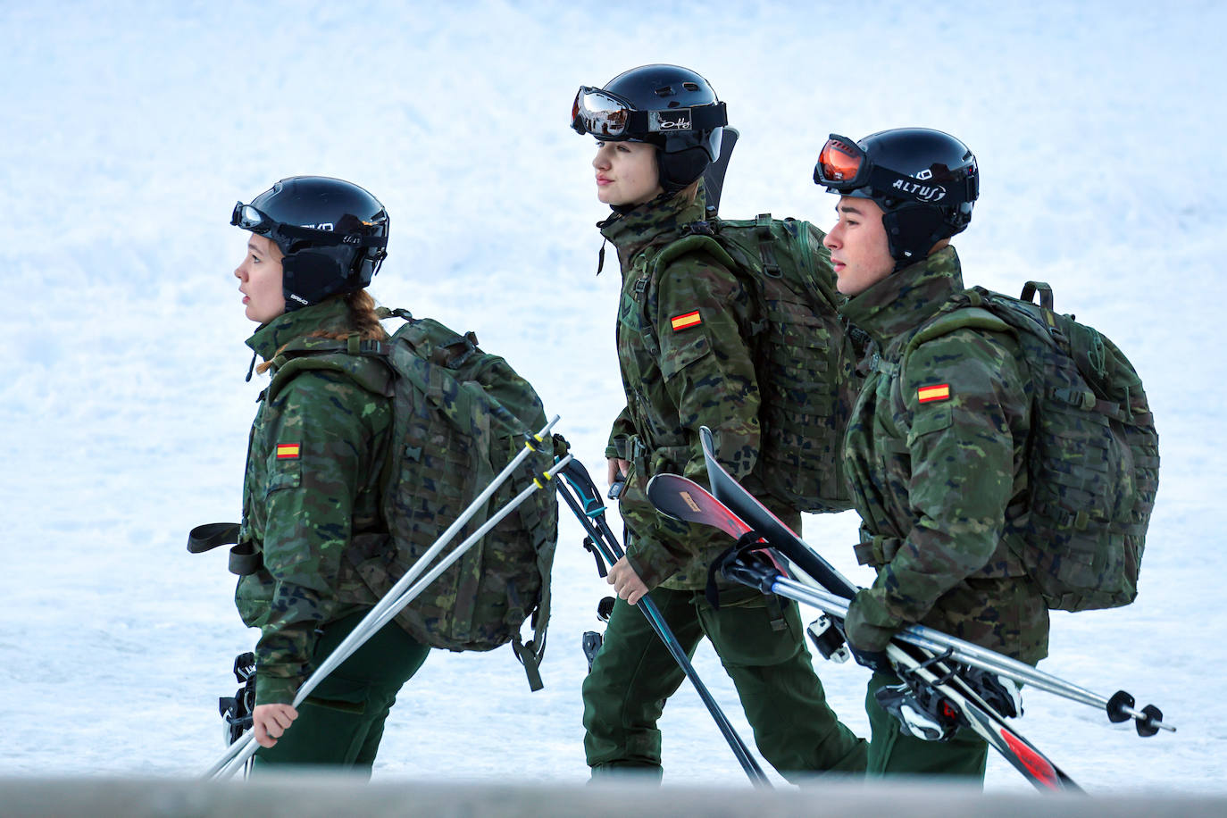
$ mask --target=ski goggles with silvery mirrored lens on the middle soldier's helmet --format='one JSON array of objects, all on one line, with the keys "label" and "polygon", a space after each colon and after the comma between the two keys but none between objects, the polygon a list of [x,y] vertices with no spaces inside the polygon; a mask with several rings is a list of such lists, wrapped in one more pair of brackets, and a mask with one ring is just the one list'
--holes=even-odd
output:
[{"label": "ski goggles with silvery mirrored lens on the middle soldier's helmet", "polygon": [[632,140],[648,134],[712,131],[729,124],[723,102],[692,108],[637,110],[626,99],[602,88],[580,86],[571,104],[571,126],[596,139]]}]

